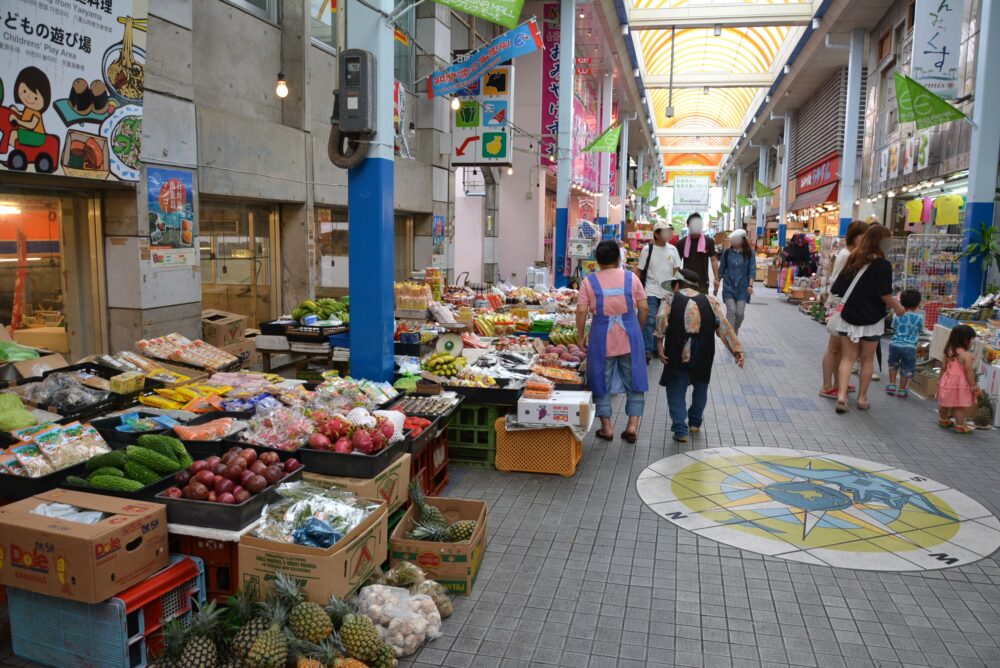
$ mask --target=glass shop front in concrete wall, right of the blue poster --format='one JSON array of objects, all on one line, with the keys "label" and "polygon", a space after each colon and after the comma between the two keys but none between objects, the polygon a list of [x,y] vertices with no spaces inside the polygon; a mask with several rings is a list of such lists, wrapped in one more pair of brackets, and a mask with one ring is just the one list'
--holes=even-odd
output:
[{"label": "glass shop front in concrete wall, right of the blue poster", "polygon": [[277,207],[208,203],[200,211],[202,308],[239,313],[255,325],[276,318]]}]

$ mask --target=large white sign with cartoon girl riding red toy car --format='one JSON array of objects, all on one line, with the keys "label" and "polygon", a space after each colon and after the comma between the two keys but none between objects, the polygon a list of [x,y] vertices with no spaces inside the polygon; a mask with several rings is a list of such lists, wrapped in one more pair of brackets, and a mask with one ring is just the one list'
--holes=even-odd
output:
[{"label": "large white sign with cartoon girl riding red toy car", "polygon": [[138,181],[147,2],[4,6],[0,166]]}]

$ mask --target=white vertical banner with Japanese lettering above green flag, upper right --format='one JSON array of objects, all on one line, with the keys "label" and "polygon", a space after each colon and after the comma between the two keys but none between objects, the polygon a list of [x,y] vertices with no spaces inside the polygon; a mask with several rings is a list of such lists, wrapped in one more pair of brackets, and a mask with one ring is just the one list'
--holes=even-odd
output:
[{"label": "white vertical banner with Japanese lettering above green flag, upper right", "polygon": [[917,0],[910,78],[945,100],[958,97],[965,0]]}]

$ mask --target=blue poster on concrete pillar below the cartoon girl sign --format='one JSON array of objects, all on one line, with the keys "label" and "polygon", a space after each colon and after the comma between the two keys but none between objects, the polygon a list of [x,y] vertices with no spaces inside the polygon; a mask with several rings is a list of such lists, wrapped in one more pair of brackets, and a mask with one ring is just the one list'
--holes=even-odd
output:
[{"label": "blue poster on concrete pillar below the cartoon girl sign", "polygon": [[197,264],[198,228],[194,213],[194,174],[179,169],[146,170],[150,259],[156,267]]}]

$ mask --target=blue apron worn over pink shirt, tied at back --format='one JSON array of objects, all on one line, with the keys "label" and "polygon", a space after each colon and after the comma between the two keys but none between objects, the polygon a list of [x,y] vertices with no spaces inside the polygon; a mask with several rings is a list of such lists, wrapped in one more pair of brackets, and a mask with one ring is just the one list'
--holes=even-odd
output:
[{"label": "blue apron worn over pink shirt, tied at back", "polygon": [[[597,280],[597,274],[587,276],[590,287],[594,290],[597,305],[593,320],[590,324],[590,345],[587,348],[587,384],[590,391],[596,396],[605,394],[622,394],[626,391],[625,383],[618,367],[611,377],[611,387],[607,386],[605,380],[605,369],[608,360],[608,328],[617,323],[625,329],[628,334],[629,348],[632,351],[632,387],[628,388],[632,392],[646,392],[649,390],[649,379],[646,378],[645,343],[642,339],[642,327],[639,325],[639,318],[635,313],[635,303],[632,301],[632,272],[625,272],[624,288],[601,289],[601,283]],[[625,297],[625,313],[623,315],[605,315],[604,297]]]}]

